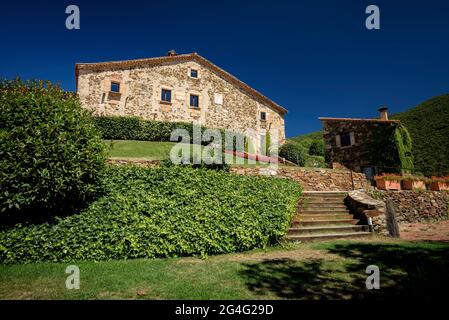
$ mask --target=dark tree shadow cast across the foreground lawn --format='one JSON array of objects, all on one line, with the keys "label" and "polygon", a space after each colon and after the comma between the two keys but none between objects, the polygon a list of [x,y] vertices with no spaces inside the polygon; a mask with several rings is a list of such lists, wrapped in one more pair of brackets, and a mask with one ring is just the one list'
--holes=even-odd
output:
[{"label": "dark tree shadow cast across the foreground lawn", "polygon": [[[441,299],[449,288],[447,244],[347,243],[323,249],[337,256],[245,263],[241,276],[253,293],[284,299]],[[369,265],[380,269],[378,290],[366,289]]]}]

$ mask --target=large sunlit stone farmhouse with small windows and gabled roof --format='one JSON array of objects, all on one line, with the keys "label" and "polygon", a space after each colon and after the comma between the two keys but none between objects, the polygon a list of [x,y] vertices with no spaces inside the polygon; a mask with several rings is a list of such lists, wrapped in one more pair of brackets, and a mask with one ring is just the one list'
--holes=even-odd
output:
[{"label": "large sunlit stone farmhouse with small windows and gabled roof", "polygon": [[81,103],[96,116],[227,129],[247,134],[256,151],[268,131],[285,141],[287,110],[197,53],[77,63],[75,74]]}]

